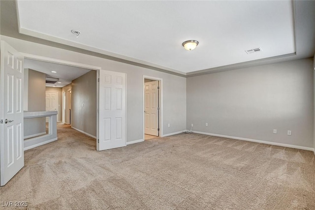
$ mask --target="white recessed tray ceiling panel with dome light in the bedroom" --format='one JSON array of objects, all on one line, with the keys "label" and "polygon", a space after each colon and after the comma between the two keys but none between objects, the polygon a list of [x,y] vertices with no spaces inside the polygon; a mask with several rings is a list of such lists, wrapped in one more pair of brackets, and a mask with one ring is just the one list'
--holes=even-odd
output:
[{"label": "white recessed tray ceiling panel with dome light in the bedroom", "polygon": [[21,33],[183,74],[296,51],[291,0],[18,0],[18,17]]}]

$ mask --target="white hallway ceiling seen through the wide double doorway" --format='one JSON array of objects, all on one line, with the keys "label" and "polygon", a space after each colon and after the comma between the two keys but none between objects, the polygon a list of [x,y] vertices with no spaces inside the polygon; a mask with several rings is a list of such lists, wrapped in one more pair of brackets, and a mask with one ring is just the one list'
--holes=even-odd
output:
[{"label": "white hallway ceiling seen through the wide double doorway", "polygon": [[[59,78],[59,82],[61,83],[46,83],[46,87],[64,87],[65,85],[70,84],[72,80],[90,71],[88,69],[36,61],[31,59],[24,59],[24,68],[46,73],[46,77]],[[57,73],[52,73],[51,71],[57,71]]]}]

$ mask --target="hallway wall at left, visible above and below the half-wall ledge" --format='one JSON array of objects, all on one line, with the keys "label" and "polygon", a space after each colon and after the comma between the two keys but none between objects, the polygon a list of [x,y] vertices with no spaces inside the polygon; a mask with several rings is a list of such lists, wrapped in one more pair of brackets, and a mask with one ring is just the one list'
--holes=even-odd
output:
[{"label": "hallway wall at left, visible above and below the half-wall ledge", "polygon": [[[28,111],[46,110],[46,74],[29,69]],[[46,132],[46,118],[24,119],[24,136]]]}]

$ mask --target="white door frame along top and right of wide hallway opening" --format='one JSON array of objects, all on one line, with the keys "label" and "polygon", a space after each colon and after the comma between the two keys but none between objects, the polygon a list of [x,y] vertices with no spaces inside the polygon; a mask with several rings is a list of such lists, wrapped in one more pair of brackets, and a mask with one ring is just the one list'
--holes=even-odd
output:
[{"label": "white door frame along top and right of wide hallway opening", "polygon": [[48,63],[55,63],[55,64],[61,64],[65,66],[71,66],[71,67],[78,67],[78,68],[84,68],[84,69],[89,69],[89,70],[96,70],[96,140],[98,140],[98,103],[99,103],[99,71],[102,70],[101,67],[97,66],[92,66],[88,64],[81,64],[81,63],[76,63],[76,62],[70,62],[70,61],[65,61],[65,60],[59,60],[59,59],[54,59],[54,58],[49,58],[49,57],[44,57],[44,56],[38,56],[38,55],[33,55],[29,53],[22,53],[22,56],[24,59],[31,59],[31,60],[36,60],[36,61],[43,61],[43,62],[48,62]]}]

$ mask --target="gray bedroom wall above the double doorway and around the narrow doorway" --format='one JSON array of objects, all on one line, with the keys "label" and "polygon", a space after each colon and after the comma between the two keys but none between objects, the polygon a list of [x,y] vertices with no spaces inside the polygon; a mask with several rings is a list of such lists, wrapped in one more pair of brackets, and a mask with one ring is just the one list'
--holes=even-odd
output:
[{"label": "gray bedroom wall above the double doorway and around the narrow doorway", "polygon": [[[186,130],[186,78],[1,35],[19,52],[101,67],[127,74],[127,141],[143,139],[143,75],[161,78],[163,134]],[[167,127],[170,123],[170,127]]]}]

